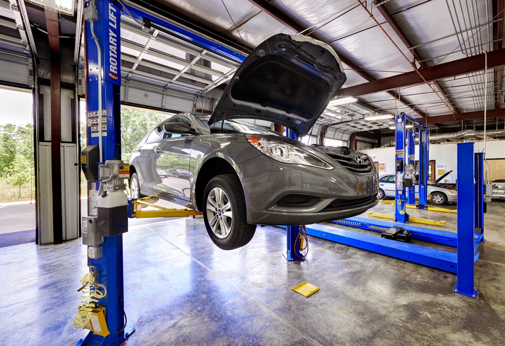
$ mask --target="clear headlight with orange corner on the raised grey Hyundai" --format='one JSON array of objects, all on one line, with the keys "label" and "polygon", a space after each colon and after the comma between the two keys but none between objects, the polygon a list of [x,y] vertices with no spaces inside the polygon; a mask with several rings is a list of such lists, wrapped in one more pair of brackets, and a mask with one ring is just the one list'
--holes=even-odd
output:
[{"label": "clear headlight with orange corner on the raised grey Hyundai", "polygon": [[283,141],[253,136],[247,136],[247,140],[260,152],[270,156],[274,160],[295,165],[333,169],[333,166],[327,164],[317,156]]}]

